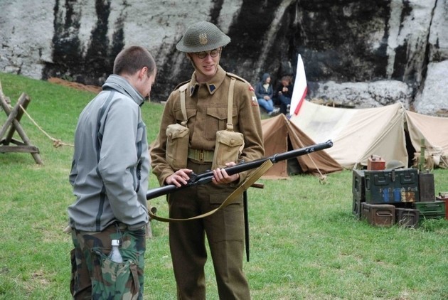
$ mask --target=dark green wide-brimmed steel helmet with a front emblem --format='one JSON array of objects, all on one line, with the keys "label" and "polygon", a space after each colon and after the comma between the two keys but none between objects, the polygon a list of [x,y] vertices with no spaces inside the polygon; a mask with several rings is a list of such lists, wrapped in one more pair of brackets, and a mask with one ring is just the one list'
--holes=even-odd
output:
[{"label": "dark green wide-brimmed steel helmet with a front emblem", "polygon": [[176,48],[181,52],[194,53],[220,48],[228,43],[230,38],[215,24],[201,21],[187,28]]}]

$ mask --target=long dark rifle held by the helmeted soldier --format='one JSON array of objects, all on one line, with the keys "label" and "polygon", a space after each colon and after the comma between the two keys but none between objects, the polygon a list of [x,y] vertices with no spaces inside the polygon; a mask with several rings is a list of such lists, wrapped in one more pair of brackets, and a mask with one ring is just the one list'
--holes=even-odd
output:
[{"label": "long dark rifle held by the helmeted soldier", "polygon": [[[228,166],[225,168],[225,171],[229,175],[233,175],[236,173],[249,171],[252,168],[258,168],[268,159],[272,161],[272,164],[276,164],[279,161],[284,161],[285,159],[292,159],[297,156],[302,156],[305,154],[311,154],[314,151],[320,151],[333,146],[333,142],[331,140],[326,141],[325,143],[314,144],[311,146],[306,146],[304,148],[295,149],[279,154],[274,154],[272,156],[268,156],[262,159],[257,159],[255,161],[242,161],[240,164],[236,164],[235,166]],[[191,173],[190,179],[188,183],[183,186],[175,186],[174,184],[169,184],[168,186],[161,186],[160,188],[151,188],[148,193],[146,193],[146,200],[157,198],[161,195],[167,195],[169,193],[173,193],[175,191],[179,191],[183,188],[189,188],[191,186],[197,186],[199,184],[210,183],[213,178],[213,171],[206,171],[201,174]]]}]

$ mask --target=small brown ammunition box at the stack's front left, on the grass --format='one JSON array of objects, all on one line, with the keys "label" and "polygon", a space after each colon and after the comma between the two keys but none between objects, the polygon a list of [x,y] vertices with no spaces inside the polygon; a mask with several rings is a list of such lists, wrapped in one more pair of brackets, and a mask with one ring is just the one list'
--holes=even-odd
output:
[{"label": "small brown ammunition box at the stack's front left, on the grass", "polygon": [[395,224],[395,206],[391,204],[361,203],[362,215],[367,223],[379,227],[390,227]]}]

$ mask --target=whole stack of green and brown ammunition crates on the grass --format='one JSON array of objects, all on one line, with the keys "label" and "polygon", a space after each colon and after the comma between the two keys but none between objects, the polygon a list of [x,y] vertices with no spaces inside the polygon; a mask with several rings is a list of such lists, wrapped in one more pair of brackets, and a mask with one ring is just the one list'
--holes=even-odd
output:
[{"label": "whole stack of green and brown ammunition crates on the grass", "polygon": [[353,208],[370,225],[417,227],[423,218],[445,218],[444,200],[434,195],[434,174],[415,168],[353,170]]}]

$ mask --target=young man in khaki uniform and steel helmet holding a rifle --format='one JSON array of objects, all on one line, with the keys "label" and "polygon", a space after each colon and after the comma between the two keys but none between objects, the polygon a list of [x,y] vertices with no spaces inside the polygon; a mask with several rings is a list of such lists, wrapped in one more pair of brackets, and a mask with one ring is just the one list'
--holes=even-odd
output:
[{"label": "young man in khaki uniform and steel helmet holding a rifle", "polygon": [[[176,48],[191,61],[191,80],[171,92],[161,119],[159,136],[151,149],[151,166],[161,186],[186,184],[191,172],[211,169],[216,132],[228,124],[228,94],[234,78],[233,131],[244,136],[238,160],[252,161],[264,156],[260,109],[251,85],[220,67],[223,47],[230,42],[213,23],[201,21],[190,26]],[[173,168],[166,159],[170,124],[181,124],[181,92],[186,97],[188,158],[185,168]],[[179,154],[182,156],[183,154]],[[227,166],[233,166],[229,161]],[[213,183],[193,186],[168,196],[170,218],[191,218],[218,208],[225,198],[247,177],[247,173],[229,176],[225,168],[214,168]],[[198,220],[169,224],[169,244],[178,299],[206,299],[204,264],[207,237],[213,259],[220,299],[250,299],[249,286],[242,272],[244,221],[242,197],[213,215]]]}]

